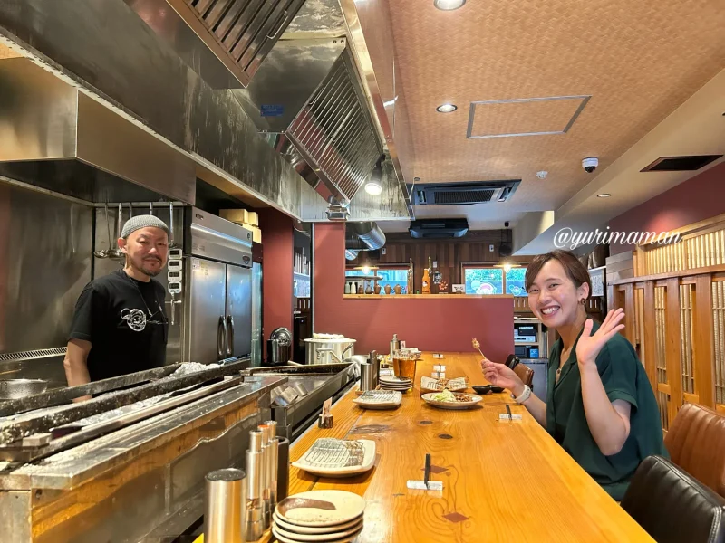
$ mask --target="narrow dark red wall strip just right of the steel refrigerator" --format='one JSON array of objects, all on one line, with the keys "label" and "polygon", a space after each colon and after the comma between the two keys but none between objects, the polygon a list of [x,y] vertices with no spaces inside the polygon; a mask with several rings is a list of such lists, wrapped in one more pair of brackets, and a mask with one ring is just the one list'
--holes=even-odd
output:
[{"label": "narrow dark red wall strip just right of the steel refrigerator", "polygon": [[266,357],[266,340],[269,334],[279,327],[292,331],[295,245],[292,218],[271,207],[256,211],[262,231],[262,326]]}]

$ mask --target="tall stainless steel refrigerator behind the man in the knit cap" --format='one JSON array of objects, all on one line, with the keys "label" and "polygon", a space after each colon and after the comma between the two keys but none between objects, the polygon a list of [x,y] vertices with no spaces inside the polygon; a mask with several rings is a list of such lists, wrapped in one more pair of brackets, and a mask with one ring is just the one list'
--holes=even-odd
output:
[{"label": "tall stainless steel refrigerator behind the man in the knit cap", "polygon": [[197,208],[184,228],[181,358],[208,364],[252,353],[252,233]]}]

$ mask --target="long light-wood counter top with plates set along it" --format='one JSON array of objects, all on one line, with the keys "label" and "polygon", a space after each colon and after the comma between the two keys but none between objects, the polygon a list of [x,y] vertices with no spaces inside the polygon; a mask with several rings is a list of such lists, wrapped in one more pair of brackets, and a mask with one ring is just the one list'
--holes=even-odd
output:
[{"label": "long light-wood counter top with plates set along it", "polygon": [[[486,384],[478,355],[446,354],[449,377]],[[420,399],[420,376],[430,376],[433,357],[418,363],[415,388],[394,411],[366,411],[352,390],[333,406],[334,427],[316,426],[292,447],[297,460],[318,437],[372,439],[375,467],[349,479],[319,478],[290,469],[290,495],[340,489],[367,500],[358,543],[393,541],[652,541],[507,393],[485,395],[482,407],[449,411]],[[504,404],[522,421],[498,421]],[[430,423],[429,423],[430,421]],[[422,480],[425,454],[442,470],[431,479],[443,491],[411,491]],[[274,538],[262,539],[263,541]]]}]

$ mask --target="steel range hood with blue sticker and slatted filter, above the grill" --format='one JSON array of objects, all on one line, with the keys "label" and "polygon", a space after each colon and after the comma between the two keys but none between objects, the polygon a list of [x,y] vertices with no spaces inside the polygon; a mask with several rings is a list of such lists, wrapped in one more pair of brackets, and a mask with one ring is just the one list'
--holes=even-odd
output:
[{"label": "steel range hood with blue sticker and slatted filter, above the grill", "polygon": [[346,207],[382,146],[345,39],[283,40],[246,90],[250,119],[328,203]]}]

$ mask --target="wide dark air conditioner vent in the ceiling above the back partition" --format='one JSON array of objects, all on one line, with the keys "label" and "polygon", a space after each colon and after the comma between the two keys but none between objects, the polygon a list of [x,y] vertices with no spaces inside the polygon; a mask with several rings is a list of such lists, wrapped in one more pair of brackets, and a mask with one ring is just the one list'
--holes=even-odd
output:
[{"label": "wide dark air conditioner vent in the ceiling above the back partition", "polygon": [[[474,205],[507,202],[516,192],[519,183],[521,183],[520,179],[416,185],[413,190],[413,203],[415,205]],[[411,188],[409,187],[409,190]]]}]

